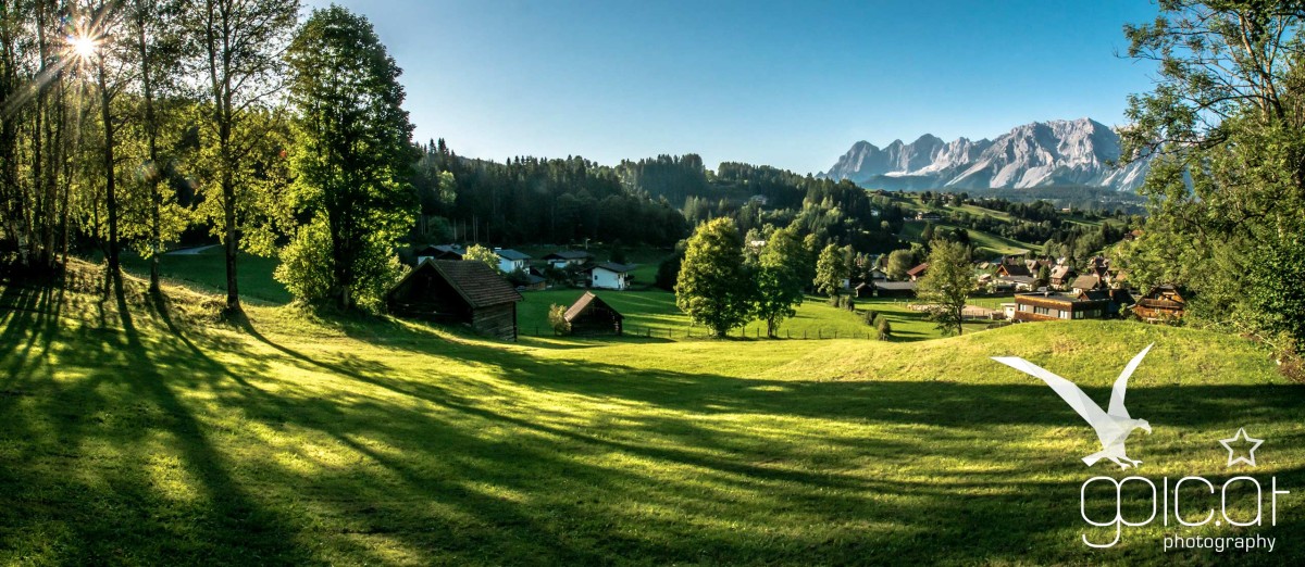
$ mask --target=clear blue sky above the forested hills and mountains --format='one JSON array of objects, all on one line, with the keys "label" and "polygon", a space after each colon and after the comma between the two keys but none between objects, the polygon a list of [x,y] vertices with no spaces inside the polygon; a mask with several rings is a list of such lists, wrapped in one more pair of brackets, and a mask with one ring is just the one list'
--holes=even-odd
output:
[{"label": "clear blue sky above the forested hills and mountains", "polygon": [[[309,0],[308,5],[325,5]],[[1122,121],[1144,0],[337,0],[403,68],[416,138],[459,155],[698,153],[801,173],[859,139]]]}]

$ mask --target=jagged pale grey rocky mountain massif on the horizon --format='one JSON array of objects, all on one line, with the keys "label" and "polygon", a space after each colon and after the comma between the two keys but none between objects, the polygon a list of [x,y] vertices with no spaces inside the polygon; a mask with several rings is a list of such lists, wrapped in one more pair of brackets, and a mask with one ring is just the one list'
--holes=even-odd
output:
[{"label": "jagged pale grey rocky mountain massif on the horizon", "polygon": [[997,139],[944,142],[924,134],[883,149],[856,142],[821,176],[882,189],[980,189],[1057,185],[1134,190],[1147,162],[1116,167],[1120,137],[1092,119],[1052,120],[1017,126]]}]

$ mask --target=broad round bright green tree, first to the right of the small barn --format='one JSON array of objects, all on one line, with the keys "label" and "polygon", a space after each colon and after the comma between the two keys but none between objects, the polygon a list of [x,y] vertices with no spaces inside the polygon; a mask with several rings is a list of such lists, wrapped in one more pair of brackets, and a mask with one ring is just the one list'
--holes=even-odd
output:
[{"label": "broad round bright green tree, first to the right of the small barn", "polygon": [[743,236],[732,219],[719,218],[698,225],[689,237],[675,304],[715,336],[748,322],[753,312],[754,284],[743,263]]}]

